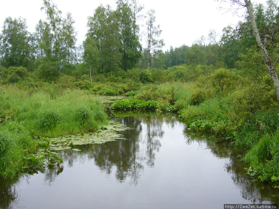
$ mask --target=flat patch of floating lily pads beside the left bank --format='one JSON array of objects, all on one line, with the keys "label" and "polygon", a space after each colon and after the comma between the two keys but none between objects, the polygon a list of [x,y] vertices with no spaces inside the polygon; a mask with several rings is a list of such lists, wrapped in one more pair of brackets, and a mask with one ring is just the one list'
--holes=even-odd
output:
[{"label": "flat patch of floating lily pads beside the left bank", "polygon": [[[51,138],[50,148],[51,150],[65,150],[73,149],[75,145],[103,144],[119,139],[126,140],[126,138],[123,138],[123,135],[117,133],[117,131],[125,131],[127,129],[131,128],[112,120],[107,126],[100,128],[100,130],[95,133],[80,133],[77,135]],[[78,149],[73,150],[80,151]]]}]

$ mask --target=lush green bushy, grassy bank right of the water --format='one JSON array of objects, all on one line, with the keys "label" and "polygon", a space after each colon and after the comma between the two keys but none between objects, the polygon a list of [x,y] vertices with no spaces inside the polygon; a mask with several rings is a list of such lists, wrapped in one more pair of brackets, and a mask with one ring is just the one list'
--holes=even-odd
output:
[{"label": "lush green bushy, grassy bank right of the water", "polygon": [[[130,100],[154,100],[154,109],[178,112],[189,129],[246,147],[242,157],[251,166],[247,173],[257,181],[275,182],[279,180],[276,95],[267,76],[260,84],[245,82],[233,71],[218,69],[196,81],[144,85]],[[130,100],[117,101],[114,106],[127,109]]]}]

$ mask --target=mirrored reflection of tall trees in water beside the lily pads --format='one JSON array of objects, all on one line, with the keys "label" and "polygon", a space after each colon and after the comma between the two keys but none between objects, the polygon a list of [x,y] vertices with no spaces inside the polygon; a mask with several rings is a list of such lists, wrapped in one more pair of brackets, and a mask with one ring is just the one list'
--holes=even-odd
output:
[{"label": "mirrored reflection of tall trees in water beside the lily pads", "polygon": [[[104,144],[88,144],[75,148],[81,151],[64,150],[59,153],[64,164],[70,167],[74,163],[86,163],[87,160],[94,159],[100,170],[110,174],[116,168],[115,177],[123,182],[127,177],[131,179],[131,184],[136,185],[140,174],[144,170],[144,164],[154,166],[155,153],[161,146],[160,138],[163,137],[162,124],[167,122],[174,127],[175,117],[158,115],[124,116],[121,123],[132,128],[122,131],[123,137],[128,140],[117,140]],[[54,181],[57,169],[46,171],[46,181]]]}]

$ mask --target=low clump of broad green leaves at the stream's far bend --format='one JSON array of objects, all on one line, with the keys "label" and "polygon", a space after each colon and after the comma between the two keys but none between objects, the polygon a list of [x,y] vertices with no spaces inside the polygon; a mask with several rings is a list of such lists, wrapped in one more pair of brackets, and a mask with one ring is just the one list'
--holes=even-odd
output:
[{"label": "low clump of broad green leaves at the stream's far bend", "polygon": [[111,109],[113,110],[156,110],[157,102],[154,100],[144,101],[139,99],[119,99],[113,102]]}]

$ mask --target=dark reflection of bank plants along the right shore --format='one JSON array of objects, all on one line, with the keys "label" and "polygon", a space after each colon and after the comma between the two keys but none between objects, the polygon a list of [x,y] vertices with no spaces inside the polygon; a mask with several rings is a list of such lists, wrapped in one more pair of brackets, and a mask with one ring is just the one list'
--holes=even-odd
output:
[{"label": "dark reflection of bank plants along the right shore", "polygon": [[229,158],[225,169],[230,174],[234,184],[241,188],[242,198],[253,203],[266,203],[267,201],[271,201],[273,204],[278,204],[278,189],[272,188],[267,184],[253,182],[250,176],[246,174],[243,168],[248,165],[244,161],[241,161],[239,156],[245,153],[243,148],[225,145],[224,143],[216,143],[217,140],[214,137],[201,136],[199,133],[189,132],[187,127],[184,129],[184,136],[188,144],[193,141],[205,143],[206,149],[210,149],[218,158]]}]

